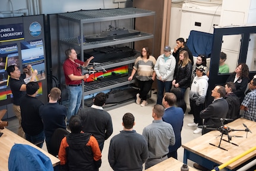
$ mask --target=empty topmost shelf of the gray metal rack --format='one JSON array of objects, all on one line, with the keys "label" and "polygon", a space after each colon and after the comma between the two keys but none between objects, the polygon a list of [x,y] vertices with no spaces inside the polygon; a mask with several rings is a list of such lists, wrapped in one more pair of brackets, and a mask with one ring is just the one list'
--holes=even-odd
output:
[{"label": "empty topmost shelf of the gray metal rack", "polygon": [[140,8],[118,8],[118,9],[98,9],[81,10],[58,14],[59,18],[74,21],[77,23],[94,23],[100,21],[122,20],[128,18],[146,17],[155,15],[156,12]]}]

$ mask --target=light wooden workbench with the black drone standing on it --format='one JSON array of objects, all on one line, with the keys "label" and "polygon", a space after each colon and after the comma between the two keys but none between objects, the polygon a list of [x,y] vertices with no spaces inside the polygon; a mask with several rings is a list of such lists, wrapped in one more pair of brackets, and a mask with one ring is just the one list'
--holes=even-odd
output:
[{"label": "light wooden workbench with the black drone standing on it", "polygon": [[[236,119],[233,122],[230,122],[226,126],[229,126],[231,129],[242,129],[245,130],[245,124],[252,133],[248,132],[246,138],[245,131],[231,131],[229,135],[231,136],[242,136],[242,137],[232,137],[231,143],[235,143],[236,145],[227,143],[226,141],[222,141],[220,147],[225,148],[223,150],[218,147],[214,147],[211,144],[216,146],[220,143],[220,131],[211,131],[207,134],[202,135],[201,137],[195,138],[192,141],[189,141],[186,144],[183,144],[184,147],[184,163],[187,163],[187,159],[192,160],[202,166],[207,167],[208,169],[213,169],[215,166],[219,166],[220,164],[226,163],[227,161],[233,159],[239,154],[244,153],[246,150],[249,150],[252,147],[256,146],[256,122],[249,121],[244,118]],[[223,135],[223,139],[227,140],[227,135]],[[252,159],[256,156],[256,151],[252,151],[252,153],[247,154],[241,159],[237,160],[229,164],[226,168],[229,170],[233,170],[241,166],[241,164],[246,161]]]}]

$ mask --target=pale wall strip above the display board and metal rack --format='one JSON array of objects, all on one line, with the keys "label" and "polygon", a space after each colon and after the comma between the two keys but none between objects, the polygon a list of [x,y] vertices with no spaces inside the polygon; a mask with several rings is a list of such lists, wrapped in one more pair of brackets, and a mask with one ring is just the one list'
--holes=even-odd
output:
[{"label": "pale wall strip above the display board and metal rack", "polygon": [[[121,1],[121,0],[120,0]],[[0,18],[21,15],[57,14],[78,11],[80,9],[124,8],[132,0],[114,3],[113,0],[1,0]],[[125,2],[126,1],[126,2]],[[26,9],[26,10],[20,10]],[[27,12],[24,14],[24,12]]]}]

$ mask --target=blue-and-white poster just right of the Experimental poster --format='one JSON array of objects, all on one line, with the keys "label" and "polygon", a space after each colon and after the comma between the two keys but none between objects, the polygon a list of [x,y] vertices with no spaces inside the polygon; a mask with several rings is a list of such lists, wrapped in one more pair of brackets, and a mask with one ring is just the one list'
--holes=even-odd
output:
[{"label": "blue-and-white poster just right of the Experimental poster", "polygon": [[[27,42],[21,42],[21,59],[22,66],[26,68],[27,65],[31,65],[32,69],[37,69],[36,80],[45,79],[45,53],[43,50],[43,40],[31,40]],[[32,71],[33,71],[32,70]],[[26,80],[30,81],[30,80]]]}]

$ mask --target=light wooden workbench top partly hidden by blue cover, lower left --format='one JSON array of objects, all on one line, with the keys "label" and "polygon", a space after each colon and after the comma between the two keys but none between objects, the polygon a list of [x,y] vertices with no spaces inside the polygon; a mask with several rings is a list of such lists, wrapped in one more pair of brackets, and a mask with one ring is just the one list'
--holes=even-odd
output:
[{"label": "light wooden workbench top partly hidden by blue cover, lower left", "polygon": [[1,129],[1,132],[4,134],[2,135],[2,137],[0,137],[0,170],[8,170],[8,159],[10,156],[11,148],[14,144],[31,145],[32,147],[37,148],[43,154],[48,156],[50,158],[50,162],[52,162],[53,167],[60,164],[60,160],[58,158],[52,156],[52,154],[49,154],[47,151],[42,150],[42,148],[37,147],[36,145],[25,140],[24,138],[21,138],[9,129]]}]

